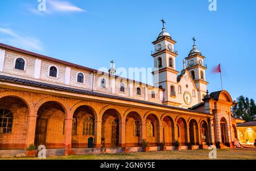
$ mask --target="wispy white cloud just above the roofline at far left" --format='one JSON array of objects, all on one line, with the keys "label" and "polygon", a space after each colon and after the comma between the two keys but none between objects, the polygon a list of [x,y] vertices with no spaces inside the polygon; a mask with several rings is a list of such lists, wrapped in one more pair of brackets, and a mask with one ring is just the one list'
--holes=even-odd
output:
[{"label": "wispy white cloud just above the roofline at far left", "polygon": [[0,34],[6,35],[5,38],[0,39],[1,43],[13,45],[27,49],[28,51],[43,51],[42,42],[36,37],[20,36],[10,28],[1,28]]}]

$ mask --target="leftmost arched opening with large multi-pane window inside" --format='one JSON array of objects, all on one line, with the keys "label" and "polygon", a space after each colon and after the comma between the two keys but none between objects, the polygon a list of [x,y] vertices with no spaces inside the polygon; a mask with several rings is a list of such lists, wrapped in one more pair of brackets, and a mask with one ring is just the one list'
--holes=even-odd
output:
[{"label": "leftmost arched opening with large multi-pane window inside", "polygon": [[0,149],[23,149],[26,145],[28,106],[14,96],[0,99]]}]

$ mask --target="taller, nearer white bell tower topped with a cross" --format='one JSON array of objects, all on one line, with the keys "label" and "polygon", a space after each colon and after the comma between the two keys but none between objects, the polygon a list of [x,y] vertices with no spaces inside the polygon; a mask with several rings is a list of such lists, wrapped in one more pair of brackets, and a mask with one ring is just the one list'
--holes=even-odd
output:
[{"label": "taller, nearer white bell tower topped with a cross", "polygon": [[[170,34],[164,27],[164,20],[162,32],[158,38],[152,42],[154,44],[154,51],[151,56],[154,59],[154,85],[164,89],[163,103],[166,105],[173,105],[171,98],[176,97],[175,93],[171,93],[171,86],[177,86],[177,72],[176,70],[176,56],[177,51],[174,50],[175,40],[172,40]],[[177,88],[177,87],[176,87]]]}]

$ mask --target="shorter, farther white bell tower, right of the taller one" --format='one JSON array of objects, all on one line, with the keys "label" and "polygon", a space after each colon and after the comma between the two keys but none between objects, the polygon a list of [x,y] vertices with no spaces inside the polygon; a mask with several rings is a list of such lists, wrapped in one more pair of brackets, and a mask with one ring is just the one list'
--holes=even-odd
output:
[{"label": "shorter, farther white bell tower, right of the taller one", "polygon": [[196,48],[195,37],[193,37],[192,40],[194,42],[193,48],[189,52],[188,57],[185,57],[185,60],[187,61],[187,70],[198,89],[198,100],[201,102],[204,95],[207,94],[208,82],[205,78],[205,70],[207,70],[207,65],[204,64],[205,57],[201,55],[199,49]]}]

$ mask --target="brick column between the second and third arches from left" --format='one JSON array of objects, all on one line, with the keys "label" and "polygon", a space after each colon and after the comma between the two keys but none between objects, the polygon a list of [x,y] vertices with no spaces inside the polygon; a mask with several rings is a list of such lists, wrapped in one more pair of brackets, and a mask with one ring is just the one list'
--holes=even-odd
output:
[{"label": "brick column between the second and third arches from left", "polygon": [[72,120],[73,118],[65,118],[65,129],[64,129],[64,145],[65,155],[69,155],[69,151],[72,148]]}]

